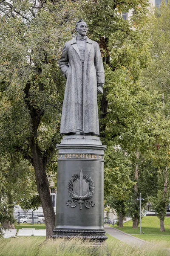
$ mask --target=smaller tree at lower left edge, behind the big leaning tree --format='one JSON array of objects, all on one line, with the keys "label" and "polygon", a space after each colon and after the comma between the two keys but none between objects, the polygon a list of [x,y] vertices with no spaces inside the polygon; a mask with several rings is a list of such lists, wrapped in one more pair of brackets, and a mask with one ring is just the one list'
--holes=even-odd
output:
[{"label": "smaller tree at lower left edge, behind the big leaning tree", "polygon": [[37,193],[34,170],[17,156],[0,158],[0,222],[4,228],[14,228],[14,205]]}]

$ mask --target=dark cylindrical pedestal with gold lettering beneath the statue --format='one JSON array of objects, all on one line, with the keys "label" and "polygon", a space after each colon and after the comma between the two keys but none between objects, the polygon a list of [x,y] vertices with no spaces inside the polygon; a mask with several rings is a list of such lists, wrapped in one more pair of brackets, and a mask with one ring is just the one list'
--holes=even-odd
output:
[{"label": "dark cylindrical pedestal with gold lettering beneath the statue", "polygon": [[107,239],[103,226],[104,150],[99,137],[65,136],[57,145],[54,238]]}]

